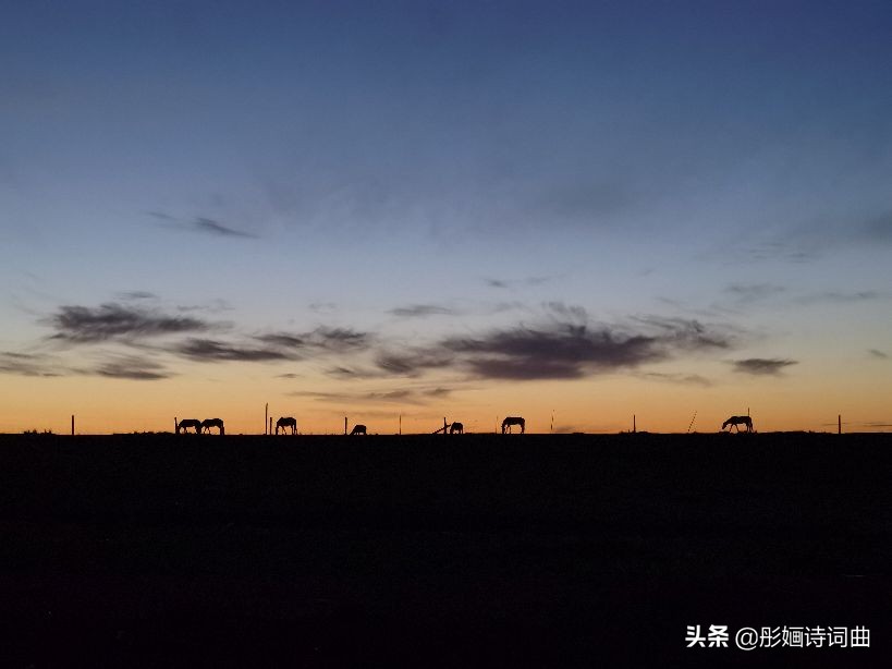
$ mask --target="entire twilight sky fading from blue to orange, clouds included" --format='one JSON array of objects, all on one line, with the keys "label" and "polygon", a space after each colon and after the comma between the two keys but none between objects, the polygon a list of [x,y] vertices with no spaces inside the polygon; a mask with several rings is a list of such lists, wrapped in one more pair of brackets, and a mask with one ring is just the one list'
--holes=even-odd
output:
[{"label": "entire twilight sky fading from blue to orange, clouds included", "polygon": [[888,2],[10,2],[0,433],[892,428]]}]

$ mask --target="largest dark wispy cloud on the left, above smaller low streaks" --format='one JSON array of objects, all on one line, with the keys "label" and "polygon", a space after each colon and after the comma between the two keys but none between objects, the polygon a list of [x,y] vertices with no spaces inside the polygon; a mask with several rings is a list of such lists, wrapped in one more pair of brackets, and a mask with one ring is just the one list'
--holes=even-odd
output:
[{"label": "largest dark wispy cloud on the left, above smaller low streaks", "polygon": [[49,324],[56,328],[52,339],[73,343],[196,332],[210,327],[196,318],[166,316],[115,303],[102,304],[96,308],[62,306],[49,318]]}]

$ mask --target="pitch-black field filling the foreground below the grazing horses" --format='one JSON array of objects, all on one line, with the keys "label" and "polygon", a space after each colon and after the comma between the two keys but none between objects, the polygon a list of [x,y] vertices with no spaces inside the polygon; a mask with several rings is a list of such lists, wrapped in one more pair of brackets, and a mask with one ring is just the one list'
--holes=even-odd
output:
[{"label": "pitch-black field filling the foreground below the grazing horses", "polygon": [[892,655],[883,435],[0,436],[0,533],[2,666]]}]

